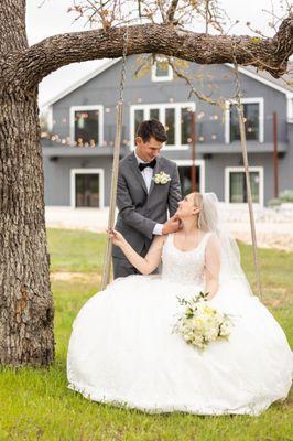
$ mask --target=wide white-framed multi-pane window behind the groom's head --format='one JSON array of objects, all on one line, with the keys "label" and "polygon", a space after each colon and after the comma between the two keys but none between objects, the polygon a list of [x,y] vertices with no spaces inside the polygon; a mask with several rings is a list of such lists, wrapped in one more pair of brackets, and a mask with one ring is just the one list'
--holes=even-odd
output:
[{"label": "wide white-framed multi-pane window behind the groom's head", "polygon": [[192,118],[195,110],[194,103],[134,105],[130,109],[130,138],[134,148],[134,138],[139,123],[145,119],[154,118],[162,122],[166,129],[167,148],[188,148],[191,143]]}]

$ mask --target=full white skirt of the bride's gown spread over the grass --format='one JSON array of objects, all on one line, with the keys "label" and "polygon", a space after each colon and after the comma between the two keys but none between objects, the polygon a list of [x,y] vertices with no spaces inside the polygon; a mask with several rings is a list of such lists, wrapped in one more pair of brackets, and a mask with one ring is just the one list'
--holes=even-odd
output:
[{"label": "full white skirt of the bride's gown spread over the grass", "polygon": [[231,314],[228,341],[194,348],[173,332],[178,297],[202,286],[129,276],[90,298],[73,324],[68,387],[84,397],[145,412],[259,415],[285,399],[293,357],[268,309],[243,283],[220,286],[210,304]]}]

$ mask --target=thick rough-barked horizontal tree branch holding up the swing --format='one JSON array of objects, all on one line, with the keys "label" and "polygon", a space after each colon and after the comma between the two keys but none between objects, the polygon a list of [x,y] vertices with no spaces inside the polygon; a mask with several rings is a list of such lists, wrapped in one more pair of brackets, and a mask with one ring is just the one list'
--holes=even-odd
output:
[{"label": "thick rough-barked horizontal tree branch holding up the swing", "polygon": [[[126,26],[120,26],[107,32],[85,31],[51,36],[22,53],[8,56],[1,77],[3,80],[10,78],[10,87],[28,89],[35,87],[51,72],[70,63],[120,57],[126,30]],[[166,24],[133,25],[128,28],[127,54],[160,53],[198,64],[234,63],[234,41],[237,42],[235,56],[238,64],[253,65],[279,78],[286,72],[289,56],[293,53],[293,15],[282,22],[272,39],[209,35]]]}]

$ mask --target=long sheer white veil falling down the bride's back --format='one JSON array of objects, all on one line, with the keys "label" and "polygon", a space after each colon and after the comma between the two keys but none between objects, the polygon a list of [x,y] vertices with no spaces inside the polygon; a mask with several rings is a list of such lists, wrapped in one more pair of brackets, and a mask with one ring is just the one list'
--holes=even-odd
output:
[{"label": "long sheer white veil falling down the bride's back", "polygon": [[240,251],[235,238],[225,225],[220,213],[220,205],[215,193],[203,194],[203,205],[198,219],[199,228],[214,232],[220,245],[220,282],[237,281],[246,286],[250,295],[253,295],[246,273],[240,262]]}]

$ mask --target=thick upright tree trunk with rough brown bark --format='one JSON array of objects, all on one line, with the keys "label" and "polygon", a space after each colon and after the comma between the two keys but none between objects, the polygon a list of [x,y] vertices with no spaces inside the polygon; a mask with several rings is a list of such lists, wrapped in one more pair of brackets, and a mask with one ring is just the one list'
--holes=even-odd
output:
[{"label": "thick upright tree trunk with rough brown bark", "polygon": [[37,87],[14,87],[9,56],[28,49],[24,0],[0,11],[0,364],[54,359]]}]

